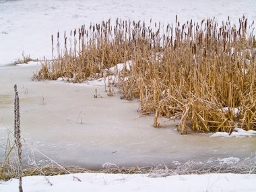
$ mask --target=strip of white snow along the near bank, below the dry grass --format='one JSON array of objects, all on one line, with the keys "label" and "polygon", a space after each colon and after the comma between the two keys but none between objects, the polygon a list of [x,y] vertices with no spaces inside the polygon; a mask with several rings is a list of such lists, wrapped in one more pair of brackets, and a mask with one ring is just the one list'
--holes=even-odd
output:
[{"label": "strip of white snow along the near bank, below the dry grass", "polygon": [[[77,178],[80,181],[78,181]],[[148,174],[82,173],[23,178],[24,191],[256,191],[256,174],[194,174],[150,178]],[[18,179],[0,183],[0,191],[18,190]]]}]

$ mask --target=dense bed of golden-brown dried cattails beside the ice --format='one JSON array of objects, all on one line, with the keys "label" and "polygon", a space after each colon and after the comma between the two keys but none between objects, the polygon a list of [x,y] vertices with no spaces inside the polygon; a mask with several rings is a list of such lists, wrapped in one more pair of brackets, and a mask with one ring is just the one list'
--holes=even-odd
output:
[{"label": "dense bed of golden-brown dried cattails beside the ice", "polygon": [[[177,117],[179,131],[256,129],[256,40],[247,18],[163,25],[117,19],[52,36],[53,58],[35,79],[69,82],[118,76],[122,98],[139,98],[141,113]],[[55,56],[57,47],[57,56]],[[62,48],[61,48],[62,47]],[[131,61],[119,71],[117,63]],[[111,72],[110,67],[115,67]]]}]

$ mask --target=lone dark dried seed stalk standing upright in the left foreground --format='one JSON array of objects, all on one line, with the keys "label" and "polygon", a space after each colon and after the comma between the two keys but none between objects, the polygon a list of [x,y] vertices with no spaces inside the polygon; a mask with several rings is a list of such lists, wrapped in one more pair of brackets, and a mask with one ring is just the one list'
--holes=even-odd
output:
[{"label": "lone dark dried seed stalk standing upright in the left foreground", "polygon": [[17,85],[14,85],[14,137],[15,145],[18,148],[18,176],[19,176],[19,191],[22,192],[22,142],[20,141],[20,100],[17,91]]}]

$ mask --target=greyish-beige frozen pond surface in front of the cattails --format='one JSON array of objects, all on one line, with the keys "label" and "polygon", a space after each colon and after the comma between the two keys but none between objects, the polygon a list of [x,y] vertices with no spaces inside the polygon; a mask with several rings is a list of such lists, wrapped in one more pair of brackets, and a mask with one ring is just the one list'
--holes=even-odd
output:
[{"label": "greyish-beige frozen pond surface in front of the cattails", "polygon": [[[105,162],[120,166],[151,166],[174,161],[205,162],[255,152],[256,137],[180,135],[173,121],[161,129],[153,117],[139,117],[139,102],[108,97],[104,86],[63,82],[33,82],[39,65],[0,69],[0,158],[13,127],[13,84],[18,84],[22,137],[28,146],[61,163],[99,168]],[[94,98],[94,89],[103,98]],[[177,123],[176,123],[177,124]],[[38,154],[37,154],[38,155]]]}]

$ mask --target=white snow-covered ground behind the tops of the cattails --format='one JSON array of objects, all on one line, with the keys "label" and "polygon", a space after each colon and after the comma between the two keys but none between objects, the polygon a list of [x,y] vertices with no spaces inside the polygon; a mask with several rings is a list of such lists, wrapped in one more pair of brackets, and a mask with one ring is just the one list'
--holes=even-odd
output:
[{"label": "white snow-covered ground behind the tops of the cattails", "polygon": [[22,53],[33,59],[51,56],[51,35],[82,24],[112,18],[172,23],[216,18],[219,22],[247,16],[256,20],[254,0],[0,0],[0,65],[13,62]]}]

